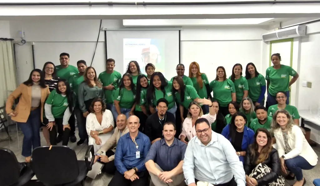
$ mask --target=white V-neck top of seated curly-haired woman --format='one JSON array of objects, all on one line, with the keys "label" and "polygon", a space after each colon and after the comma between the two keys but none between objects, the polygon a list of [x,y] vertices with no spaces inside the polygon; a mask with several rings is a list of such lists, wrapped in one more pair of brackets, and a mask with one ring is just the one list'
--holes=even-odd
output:
[{"label": "white V-neck top of seated curly-haired woman", "polygon": [[87,116],[86,129],[88,136],[90,136],[90,131],[103,131],[103,129],[107,129],[110,126],[114,127],[113,116],[110,110],[103,112],[101,125],[95,113],[90,113]]}]

